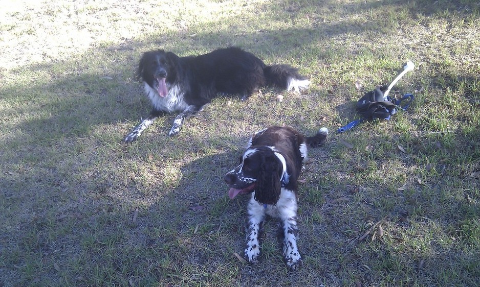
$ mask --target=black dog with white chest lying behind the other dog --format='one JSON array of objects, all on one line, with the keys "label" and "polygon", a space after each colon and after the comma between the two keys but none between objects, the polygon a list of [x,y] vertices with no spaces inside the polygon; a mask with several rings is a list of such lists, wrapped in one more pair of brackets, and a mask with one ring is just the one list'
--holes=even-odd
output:
[{"label": "black dog with white chest lying behind the other dog", "polygon": [[184,120],[217,95],[240,95],[242,101],[260,87],[276,86],[299,91],[310,81],[289,65],[267,66],[253,54],[230,47],[200,56],[179,57],[172,52],[145,52],[137,71],[154,106],[150,114],[126,137],[133,141],[157,117],[180,112],[168,133],[176,136]]}]

